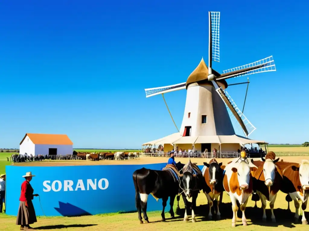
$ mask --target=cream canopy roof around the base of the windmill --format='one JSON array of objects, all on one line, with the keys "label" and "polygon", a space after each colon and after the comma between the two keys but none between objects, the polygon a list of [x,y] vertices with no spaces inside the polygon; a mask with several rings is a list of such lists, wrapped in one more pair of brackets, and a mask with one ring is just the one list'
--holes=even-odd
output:
[{"label": "cream canopy roof around the base of the windmill", "polygon": [[263,140],[251,140],[243,136],[182,136],[179,132],[153,140],[143,145],[159,144],[267,144]]}]

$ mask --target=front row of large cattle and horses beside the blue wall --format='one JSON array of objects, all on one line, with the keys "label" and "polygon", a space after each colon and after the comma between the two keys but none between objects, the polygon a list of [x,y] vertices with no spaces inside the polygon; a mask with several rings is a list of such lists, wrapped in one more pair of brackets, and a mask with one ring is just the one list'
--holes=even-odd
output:
[{"label": "front row of large cattle and horses beside the blue wall", "polygon": [[[187,209],[192,209],[192,222],[196,222],[196,200],[202,190],[209,205],[209,219],[212,219],[211,207],[214,200],[217,201],[217,219],[220,219],[220,203],[223,192],[229,195],[232,202],[232,226],[236,226],[237,211],[242,211],[242,223],[247,225],[245,209],[248,199],[252,194],[252,200],[260,198],[263,208],[261,219],[266,221],[266,201],[269,201],[272,222],[276,222],[273,213],[274,203],[279,191],[287,194],[287,201],[294,201],[296,208],[295,221],[299,218],[299,200],[302,201],[302,209],[307,207],[309,197],[309,161],[303,160],[299,163],[279,161],[275,153],[269,152],[261,160],[254,161],[241,153],[239,158],[230,161],[226,166],[211,159],[209,163],[204,162],[200,170],[196,164],[189,162],[176,166],[168,164],[161,170],[141,168],[133,173],[135,186],[135,202],[138,210],[138,219],[142,224],[142,213],[146,223],[149,222],[146,209],[148,195],[155,199],[162,199],[163,211],[162,221],[165,221],[164,209],[170,197],[170,214],[174,217],[173,204],[177,197],[179,209],[180,195],[184,200],[184,221],[188,221]],[[258,198],[257,198],[258,200]],[[256,201],[257,201],[256,200]],[[239,206],[238,206],[239,204]],[[215,210],[214,210],[215,211]],[[215,213],[215,212],[214,212]],[[302,216],[302,224],[307,224],[305,216]]]}]

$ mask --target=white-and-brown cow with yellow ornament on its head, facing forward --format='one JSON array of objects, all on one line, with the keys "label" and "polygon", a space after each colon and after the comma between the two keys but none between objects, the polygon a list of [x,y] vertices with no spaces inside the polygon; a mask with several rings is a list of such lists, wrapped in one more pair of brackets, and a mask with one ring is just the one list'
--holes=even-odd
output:
[{"label": "white-and-brown cow with yellow ornament on its head, facing forward", "polygon": [[233,227],[236,226],[236,213],[238,210],[237,201],[240,204],[240,210],[243,212],[243,225],[247,225],[245,209],[253,189],[251,176],[251,171],[253,171],[253,168],[257,167],[251,163],[247,157],[236,158],[231,163],[226,165],[226,171],[223,178],[223,187],[231,198],[233,210]]}]

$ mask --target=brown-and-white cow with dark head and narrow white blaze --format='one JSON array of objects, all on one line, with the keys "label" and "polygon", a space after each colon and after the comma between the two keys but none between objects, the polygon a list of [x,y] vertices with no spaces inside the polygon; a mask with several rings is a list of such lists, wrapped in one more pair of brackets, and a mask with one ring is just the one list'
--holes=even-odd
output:
[{"label": "brown-and-white cow with dark head and narrow white blaze", "polygon": [[[209,164],[204,162],[204,165],[205,166],[202,168],[202,173],[206,185],[205,188],[203,188],[203,192],[206,195],[209,205],[208,218],[212,218],[211,207],[213,206],[214,199],[216,199],[218,207],[217,219],[220,219],[221,213],[219,210],[219,204],[222,202],[222,196],[224,191],[223,176],[225,166],[222,165],[222,163],[218,163],[216,159],[211,159]],[[214,213],[216,213],[216,210],[214,210]]]}]

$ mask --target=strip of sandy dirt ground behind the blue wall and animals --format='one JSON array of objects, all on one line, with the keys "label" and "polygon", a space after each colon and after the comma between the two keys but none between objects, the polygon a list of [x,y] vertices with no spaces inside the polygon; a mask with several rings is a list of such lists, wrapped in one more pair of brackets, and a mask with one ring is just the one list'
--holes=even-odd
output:
[{"label": "strip of sandy dirt ground behind the blue wall and animals", "polygon": [[[190,158],[192,163],[197,163],[197,165],[203,165],[203,162],[209,162],[211,158]],[[260,160],[260,158],[252,158],[254,160]],[[299,163],[303,159],[309,160],[309,156],[284,156],[280,157],[280,160],[288,162]],[[100,160],[100,161],[91,161],[91,160],[44,160],[44,161],[34,161],[34,162],[23,162],[23,163],[12,163],[16,166],[74,166],[74,165],[122,165],[122,164],[156,164],[156,163],[167,163],[167,157],[144,157],[141,156],[139,159],[134,160]],[[220,159],[216,158],[218,162],[222,162],[223,165],[226,165],[232,159]],[[180,161],[185,164],[188,163],[189,158],[175,158],[175,161]]]}]

